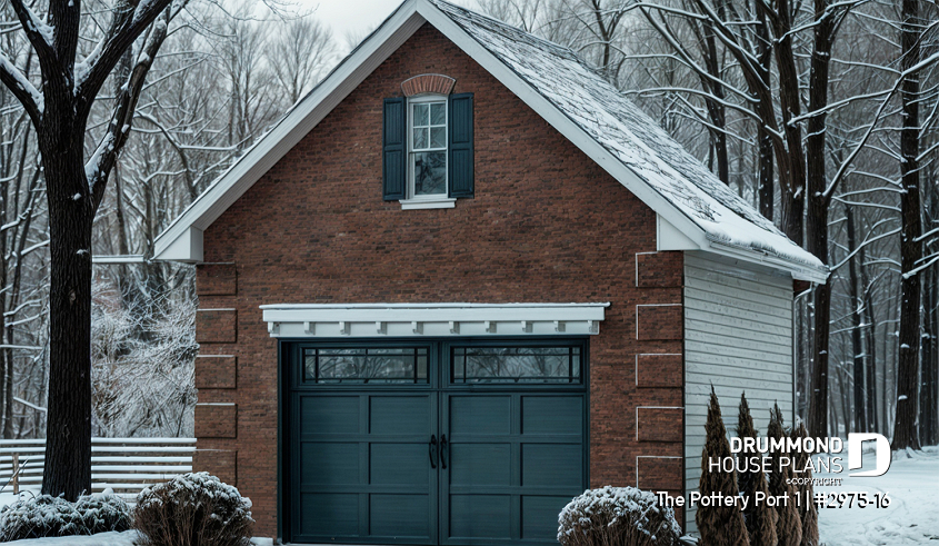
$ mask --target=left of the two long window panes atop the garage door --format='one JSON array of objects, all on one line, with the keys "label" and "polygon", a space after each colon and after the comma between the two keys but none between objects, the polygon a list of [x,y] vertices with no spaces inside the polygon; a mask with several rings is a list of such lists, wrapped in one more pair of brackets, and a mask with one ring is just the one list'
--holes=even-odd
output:
[{"label": "left of the two long window panes atop the garage door", "polygon": [[314,384],[427,384],[427,348],[306,349],[303,381]]}]

